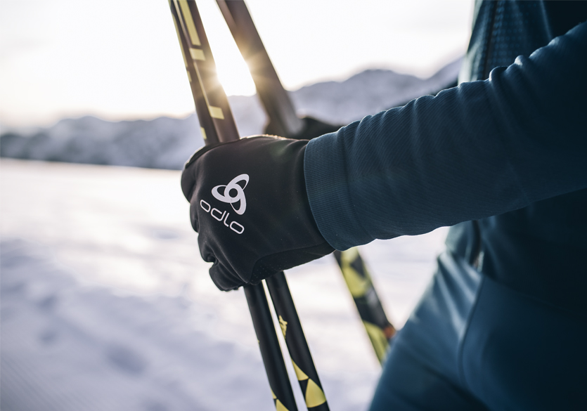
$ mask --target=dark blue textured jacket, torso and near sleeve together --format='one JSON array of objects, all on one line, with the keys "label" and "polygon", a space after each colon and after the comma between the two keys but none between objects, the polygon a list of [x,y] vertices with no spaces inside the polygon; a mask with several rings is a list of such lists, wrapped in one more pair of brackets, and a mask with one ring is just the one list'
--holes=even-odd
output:
[{"label": "dark blue textured jacket, torso and near sleeve together", "polygon": [[485,275],[587,313],[586,20],[583,1],[479,2],[458,87],[311,141],[325,239],[454,226],[449,250]]}]

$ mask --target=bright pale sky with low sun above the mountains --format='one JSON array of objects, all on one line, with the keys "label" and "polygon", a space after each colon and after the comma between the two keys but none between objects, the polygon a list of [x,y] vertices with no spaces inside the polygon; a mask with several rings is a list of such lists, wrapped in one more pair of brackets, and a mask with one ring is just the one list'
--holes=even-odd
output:
[{"label": "bright pale sky with low sun above the mountains", "polygon": [[[462,55],[472,0],[248,0],[283,84],[366,68],[427,77]],[[214,0],[198,0],[226,92],[254,86]],[[183,117],[193,100],[167,0],[0,0],[0,124]]]}]

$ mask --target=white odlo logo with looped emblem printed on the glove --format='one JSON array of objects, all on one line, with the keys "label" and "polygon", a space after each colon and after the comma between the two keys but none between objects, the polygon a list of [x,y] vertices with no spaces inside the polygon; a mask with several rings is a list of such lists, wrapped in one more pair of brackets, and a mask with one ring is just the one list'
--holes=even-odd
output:
[{"label": "white odlo logo with looped emblem printed on the glove", "polygon": [[[242,183],[243,181],[244,184],[240,185],[239,183]],[[240,174],[240,176],[236,176],[235,178],[233,178],[230,183],[226,185],[217,185],[216,187],[212,188],[212,195],[214,196],[214,198],[220,200],[221,202],[227,202],[228,204],[231,204],[231,207],[233,208],[234,212],[241,216],[245,213],[245,210],[247,209],[247,200],[245,199],[244,188],[247,186],[248,183],[248,174]],[[222,190],[222,193],[220,193],[220,190]],[[235,207],[235,204],[238,204],[238,208]],[[230,223],[228,223],[228,216],[230,215],[230,213],[227,213],[226,211],[220,211],[217,208],[212,208],[212,206],[204,200],[200,200],[200,207],[202,207],[202,210],[209,213],[215,220],[221,221],[222,223],[224,223],[224,226],[230,228],[235,233],[243,234],[243,232],[245,231],[245,227],[243,227],[236,221],[231,221]]]}]

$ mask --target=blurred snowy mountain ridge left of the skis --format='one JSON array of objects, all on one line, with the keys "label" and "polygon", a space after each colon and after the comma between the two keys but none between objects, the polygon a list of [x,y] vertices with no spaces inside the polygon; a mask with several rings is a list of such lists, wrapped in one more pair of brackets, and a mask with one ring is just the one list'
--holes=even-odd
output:
[{"label": "blurred snowy mountain ridge left of the skis", "polygon": [[[0,137],[1,157],[54,162],[180,169],[203,144],[195,115],[150,121],[107,122],[96,117],[63,119],[33,133]],[[196,138],[193,138],[196,136]]]}]

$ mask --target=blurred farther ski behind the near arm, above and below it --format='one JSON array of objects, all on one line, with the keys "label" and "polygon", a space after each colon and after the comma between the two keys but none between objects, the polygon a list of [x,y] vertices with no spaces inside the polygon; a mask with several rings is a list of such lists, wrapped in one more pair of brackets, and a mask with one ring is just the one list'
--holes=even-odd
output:
[{"label": "blurred farther ski behind the near arm, above and below it", "polygon": [[[245,1],[217,0],[217,4],[240,53],[249,65],[257,95],[269,116],[272,131],[280,136],[296,136],[304,127],[303,121],[297,117],[292,100],[279,80]],[[395,328],[385,315],[358,249],[354,247],[344,252],[335,252],[334,255],[373,345],[375,355],[382,363],[385,360],[389,339],[395,334]]]}]

